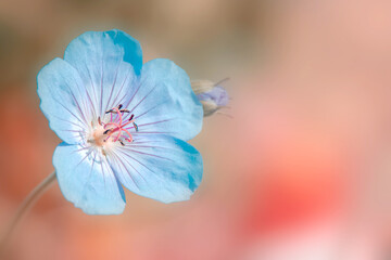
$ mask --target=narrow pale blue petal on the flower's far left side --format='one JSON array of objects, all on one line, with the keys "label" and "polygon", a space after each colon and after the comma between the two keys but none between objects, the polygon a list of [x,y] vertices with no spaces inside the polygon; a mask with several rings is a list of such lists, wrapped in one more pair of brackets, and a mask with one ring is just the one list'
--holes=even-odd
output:
[{"label": "narrow pale blue petal on the flower's far left side", "polygon": [[46,65],[37,76],[40,108],[50,128],[67,143],[77,143],[88,128],[87,101],[76,69],[61,58]]}]

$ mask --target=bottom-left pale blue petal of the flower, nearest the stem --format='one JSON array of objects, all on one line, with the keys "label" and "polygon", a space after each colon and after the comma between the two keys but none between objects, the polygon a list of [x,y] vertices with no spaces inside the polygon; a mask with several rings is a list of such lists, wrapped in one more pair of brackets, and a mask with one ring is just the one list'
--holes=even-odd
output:
[{"label": "bottom-left pale blue petal of the flower, nearest the stem", "polygon": [[97,152],[61,143],[53,165],[65,198],[89,214],[118,214],[125,208],[124,190]]}]

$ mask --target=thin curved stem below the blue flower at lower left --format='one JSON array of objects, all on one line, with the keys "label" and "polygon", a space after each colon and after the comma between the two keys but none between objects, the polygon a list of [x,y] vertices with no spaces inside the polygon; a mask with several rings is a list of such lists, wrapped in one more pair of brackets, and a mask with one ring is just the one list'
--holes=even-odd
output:
[{"label": "thin curved stem below the blue flower at lower left", "polygon": [[41,183],[39,183],[27,195],[27,197],[25,197],[22,205],[17,208],[15,216],[12,218],[10,224],[5,227],[4,233],[0,237],[0,258],[3,256],[7,244],[10,240],[13,231],[17,226],[17,223],[23,219],[27,210],[31,208],[38,198],[40,198],[40,196],[50,187],[50,185],[54,183],[55,179],[55,171],[53,171]]}]

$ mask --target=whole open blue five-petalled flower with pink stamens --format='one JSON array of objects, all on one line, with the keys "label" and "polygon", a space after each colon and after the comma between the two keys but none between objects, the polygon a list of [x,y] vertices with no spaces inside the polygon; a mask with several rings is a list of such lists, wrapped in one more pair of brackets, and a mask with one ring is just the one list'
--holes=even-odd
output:
[{"label": "whole open blue five-petalled flower with pink stamens", "polygon": [[202,105],[173,62],[142,64],[126,32],[88,31],[37,83],[40,108],[63,141],[53,155],[60,188],[86,213],[122,213],[123,186],[163,203],[189,199],[199,186],[202,157],[186,141],[202,128]]}]

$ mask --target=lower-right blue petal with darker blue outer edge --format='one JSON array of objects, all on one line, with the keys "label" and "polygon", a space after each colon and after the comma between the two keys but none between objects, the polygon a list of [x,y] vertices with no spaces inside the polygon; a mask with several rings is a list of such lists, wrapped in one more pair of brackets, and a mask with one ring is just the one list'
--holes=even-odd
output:
[{"label": "lower-right blue petal with darker blue outer edge", "polygon": [[138,138],[108,158],[124,186],[163,203],[189,199],[202,179],[201,154],[169,135]]}]

